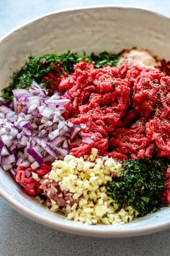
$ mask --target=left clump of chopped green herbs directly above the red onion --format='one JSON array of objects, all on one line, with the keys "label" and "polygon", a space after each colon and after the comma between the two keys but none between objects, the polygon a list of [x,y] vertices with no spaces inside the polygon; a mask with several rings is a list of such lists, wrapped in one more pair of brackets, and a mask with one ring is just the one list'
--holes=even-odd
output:
[{"label": "left clump of chopped green herbs directly above the red onion", "polygon": [[[62,72],[73,72],[73,65],[80,60],[85,59],[85,56],[80,56],[77,53],[64,54],[46,54],[40,57],[30,57],[30,61],[24,64],[24,67],[15,73],[12,77],[12,82],[7,88],[2,90],[2,97],[9,101],[12,99],[12,90],[16,88],[30,88],[32,81],[37,83],[42,82],[42,77],[48,72],[55,75],[61,75]],[[58,69],[56,70],[56,65]]]}]

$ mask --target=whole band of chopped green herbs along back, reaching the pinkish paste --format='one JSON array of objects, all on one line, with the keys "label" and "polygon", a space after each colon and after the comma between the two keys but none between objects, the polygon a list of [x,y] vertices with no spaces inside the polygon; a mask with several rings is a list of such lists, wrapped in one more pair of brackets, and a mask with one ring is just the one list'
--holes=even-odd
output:
[{"label": "whole band of chopped green herbs along back, reaching the pinkish paste", "polygon": [[[95,54],[91,54],[91,56],[79,55],[76,52],[71,53],[68,51],[64,54],[46,54],[35,58],[30,57],[24,67],[13,75],[9,86],[2,90],[1,97],[6,101],[12,100],[12,90],[16,88],[28,89],[33,81],[40,84],[42,77],[48,72],[52,72],[55,75],[61,75],[62,72],[70,74],[73,72],[73,65],[85,59],[89,59],[89,63],[94,61],[97,68],[104,65],[115,66],[117,64],[117,54],[108,54],[106,51],[99,54],[99,56]],[[57,65],[58,69],[56,69]],[[45,86],[48,88],[48,83]]]}]

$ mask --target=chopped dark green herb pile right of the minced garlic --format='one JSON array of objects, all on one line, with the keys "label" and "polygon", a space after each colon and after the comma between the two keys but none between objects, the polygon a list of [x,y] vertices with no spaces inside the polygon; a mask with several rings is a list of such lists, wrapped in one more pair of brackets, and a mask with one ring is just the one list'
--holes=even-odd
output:
[{"label": "chopped dark green herb pile right of the minced garlic", "polygon": [[132,206],[138,216],[144,216],[165,206],[159,195],[164,192],[166,161],[128,160],[122,166],[122,176],[107,186],[108,195],[120,204],[120,208]]}]

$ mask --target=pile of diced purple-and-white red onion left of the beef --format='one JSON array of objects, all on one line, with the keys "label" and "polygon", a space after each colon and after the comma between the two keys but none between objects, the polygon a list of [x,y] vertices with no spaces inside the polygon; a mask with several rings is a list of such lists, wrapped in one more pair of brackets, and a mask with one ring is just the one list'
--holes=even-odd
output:
[{"label": "pile of diced purple-and-white red onion left of the beef", "polygon": [[70,99],[60,93],[49,97],[37,83],[33,85],[28,91],[14,90],[12,104],[0,103],[0,161],[13,176],[14,166],[36,169],[56,157],[63,159],[81,130],[62,116]]}]

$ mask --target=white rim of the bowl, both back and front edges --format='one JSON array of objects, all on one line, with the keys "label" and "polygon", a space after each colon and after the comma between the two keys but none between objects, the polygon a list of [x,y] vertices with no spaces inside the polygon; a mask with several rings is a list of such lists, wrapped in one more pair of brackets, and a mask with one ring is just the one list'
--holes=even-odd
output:
[{"label": "white rim of the bowl, both back and front edges", "polygon": [[[23,29],[24,27],[27,27],[28,25],[32,24],[33,22],[36,22],[37,20],[42,20],[45,17],[60,14],[64,12],[74,12],[74,11],[81,11],[81,10],[89,10],[89,9],[132,9],[136,12],[148,12],[151,14],[156,15],[157,17],[161,17],[164,19],[169,20],[170,17],[164,14],[160,14],[158,12],[153,12],[150,9],[145,9],[143,7],[135,7],[134,5],[119,5],[119,4],[109,4],[109,5],[92,5],[92,6],[86,6],[86,7],[73,7],[68,9],[60,9],[58,11],[54,12],[48,12],[46,14],[39,15],[27,22],[24,22],[22,25],[19,25],[15,27],[14,29],[10,30],[8,33],[6,33],[2,38],[0,38],[0,46],[1,43],[5,43],[6,40],[8,40],[9,36],[13,33],[17,32],[18,30]],[[1,184],[0,184],[1,185]],[[162,231],[164,229],[170,229],[170,219],[169,221],[163,221],[161,223],[151,224],[151,226],[140,226],[140,227],[133,227],[133,229],[130,230],[107,230],[104,229],[95,229],[94,226],[87,226],[83,223],[81,225],[76,225],[74,221],[70,221],[70,223],[64,223],[64,221],[53,221],[51,218],[47,218],[45,216],[41,216],[40,213],[35,213],[30,208],[27,208],[26,206],[22,205],[22,203],[18,202],[14,197],[11,197],[10,195],[6,195],[6,192],[2,187],[0,187],[0,197],[2,197],[9,205],[12,206],[15,210],[17,210],[22,215],[26,216],[27,218],[32,219],[32,221],[36,221],[37,223],[41,223],[45,226],[49,226],[53,229],[58,229],[60,231],[65,231],[72,234],[79,234],[84,236],[98,236],[98,237],[128,237],[128,236],[141,236],[145,234],[151,234],[156,231]],[[99,225],[98,225],[99,226]]]}]

